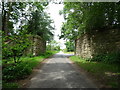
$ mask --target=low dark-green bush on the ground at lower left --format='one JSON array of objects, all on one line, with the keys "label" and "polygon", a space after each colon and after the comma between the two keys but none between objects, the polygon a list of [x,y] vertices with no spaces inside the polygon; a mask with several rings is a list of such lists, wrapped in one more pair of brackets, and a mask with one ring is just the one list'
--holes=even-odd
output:
[{"label": "low dark-green bush on the ground at lower left", "polygon": [[23,79],[32,72],[32,68],[26,63],[18,63],[3,68],[3,80],[14,81]]}]

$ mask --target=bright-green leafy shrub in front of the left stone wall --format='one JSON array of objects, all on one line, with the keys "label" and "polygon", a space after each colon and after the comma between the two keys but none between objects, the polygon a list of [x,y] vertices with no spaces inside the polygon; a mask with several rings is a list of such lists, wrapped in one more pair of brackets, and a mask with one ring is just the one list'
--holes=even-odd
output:
[{"label": "bright-green leafy shrub in front of the left stone wall", "polygon": [[28,36],[23,33],[21,35],[3,37],[3,59],[13,58],[14,62],[17,63],[29,45]]}]

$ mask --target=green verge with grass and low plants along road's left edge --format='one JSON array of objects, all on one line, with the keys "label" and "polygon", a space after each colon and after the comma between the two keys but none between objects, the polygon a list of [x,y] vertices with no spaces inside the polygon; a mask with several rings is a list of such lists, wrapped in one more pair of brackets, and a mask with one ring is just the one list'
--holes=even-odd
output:
[{"label": "green verge with grass and low plants along road's left edge", "polygon": [[47,51],[45,54],[36,57],[22,57],[20,63],[10,62],[8,65],[3,64],[3,88],[19,88],[15,83],[21,79],[27,78],[32,69],[41,63],[45,58],[57,53],[57,51]]}]

